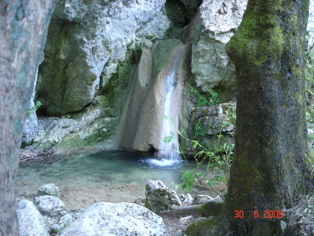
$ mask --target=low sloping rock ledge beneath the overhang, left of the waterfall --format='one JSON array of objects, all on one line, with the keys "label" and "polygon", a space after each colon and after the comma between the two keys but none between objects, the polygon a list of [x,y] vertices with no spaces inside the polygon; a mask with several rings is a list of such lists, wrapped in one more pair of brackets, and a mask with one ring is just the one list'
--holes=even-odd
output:
[{"label": "low sloping rock ledge beneath the overhang, left of the waterfall", "polygon": [[76,116],[61,118],[39,118],[40,128],[33,140],[33,147],[43,151],[57,146],[54,151],[77,147],[100,145],[101,148],[115,147],[117,118],[112,117],[110,108],[105,108],[105,96],[96,96],[93,103]]}]

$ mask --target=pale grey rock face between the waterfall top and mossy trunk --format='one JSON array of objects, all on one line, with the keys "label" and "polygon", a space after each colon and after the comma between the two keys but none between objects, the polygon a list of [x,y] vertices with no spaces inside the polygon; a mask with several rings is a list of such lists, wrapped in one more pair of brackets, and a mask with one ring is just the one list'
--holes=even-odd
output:
[{"label": "pale grey rock face between the waterfall top and mossy trunk", "polygon": [[191,72],[205,92],[235,86],[235,68],[225,52],[246,9],[247,0],[204,0],[200,6],[201,35],[192,50]]}]

